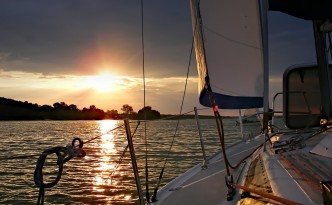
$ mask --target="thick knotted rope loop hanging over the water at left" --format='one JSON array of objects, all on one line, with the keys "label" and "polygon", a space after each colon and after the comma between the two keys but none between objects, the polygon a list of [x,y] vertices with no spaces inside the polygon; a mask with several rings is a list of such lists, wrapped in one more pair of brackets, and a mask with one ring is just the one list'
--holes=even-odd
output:
[{"label": "thick knotted rope loop hanging over the water at left", "polygon": [[[79,148],[75,148],[75,142],[79,141]],[[37,204],[44,204],[45,197],[45,188],[51,188],[55,186],[59,180],[61,179],[63,164],[68,162],[73,157],[84,157],[86,152],[82,149],[83,141],[79,138],[75,138],[72,141],[72,145],[68,145],[66,147],[51,147],[43,151],[40,157],[37,160],[36,169],[34,172],[34,181],[37,187],[39,187],[39,195]],[[58,165],[58,173],[54,181],[49,183],[44,183],[43,178],[43,167],[45,165],[45,161],[48,155],[56,154],[57,155],[57,165]]]}]

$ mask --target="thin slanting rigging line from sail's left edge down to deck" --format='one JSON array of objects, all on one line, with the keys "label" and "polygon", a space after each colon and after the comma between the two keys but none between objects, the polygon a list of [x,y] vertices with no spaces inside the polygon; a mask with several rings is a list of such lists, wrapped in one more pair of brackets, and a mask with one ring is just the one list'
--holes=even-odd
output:
[{"label": "thin slanting rigging line from sail's left edge down to deck", "polygon": [[[192,42],[191,42],[190,55],[189,55],[189,62],[188,62],[188,67],[187,67],[186,82],[185,82],[185,86],[184,86],[184,90],[183,90],[183,96],[182,96],[182,102],[181,102],[181,107],[180,107],[180,113],[179,113],[179,115],[182,115],[182,109],[183,109],[184,99],[185,99],[185,96],[186,96],[187,85],[188,85],[188,78],[189,78],[189,71],[190,71],[190,65],[191,65],[191,59],[192,59],[192,54],[193,54],[193,49],[194,49],[194,41],[195,41],[195,38],[193,36]],[[163,167],[161,169],[161,172],[160,172],[160,175],[159,175],[159,179],[158,179],[156,188],[154,189],[153,196],[152,196],[152,201],[156,201],[157,200],[157,197],[156,197],[157,196],[157,191],[158,191],[160,182],[161,182],[161,180],[163,178],[163,173],[164,173],[164,170],[165,170],[165,167],[166,167],[169,155],[170,155],[172,147],[174,145],[175,137],[176,137],[177,131],[179,129],[179,124],[180,124],[180,119],[177,120],[176,128],[175,128],[174,135],[173,135],[173,138],[172,138],[172,142],[171,142],[171,145],[170,145],[169,150],[167,152],[167,155],[166,155],[166,158],[165,158],[165,161],[164,161],[164,165],[163,165]]]}]

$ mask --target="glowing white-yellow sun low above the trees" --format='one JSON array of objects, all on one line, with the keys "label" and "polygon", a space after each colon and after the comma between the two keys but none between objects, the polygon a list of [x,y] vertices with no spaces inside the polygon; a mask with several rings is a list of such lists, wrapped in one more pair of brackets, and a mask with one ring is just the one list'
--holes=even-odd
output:
[{"label": "glowing white-yellow sun low above the trees", "polygon": [[87,76],[84,86],[98,92],[110,92],[118,89],[118,79],[111,74]]}]

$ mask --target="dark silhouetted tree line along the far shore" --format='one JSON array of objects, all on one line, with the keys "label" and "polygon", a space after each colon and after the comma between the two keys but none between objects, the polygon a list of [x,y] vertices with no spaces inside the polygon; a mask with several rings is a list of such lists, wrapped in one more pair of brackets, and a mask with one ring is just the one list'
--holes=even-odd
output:
[{"label": "dark silhouetted tree line along the far shore", "polygon": [[117,110],[97,108],[95,105],[82,110],[74,104],[56,102],[51,105],[38,105],[27,101],[17,101],[0,97],[0,120],[103,120],[103,119],[159,119],[160,113],[151,106],[140,109],[137,113],[133,107],[124,104],[121,113]]}]

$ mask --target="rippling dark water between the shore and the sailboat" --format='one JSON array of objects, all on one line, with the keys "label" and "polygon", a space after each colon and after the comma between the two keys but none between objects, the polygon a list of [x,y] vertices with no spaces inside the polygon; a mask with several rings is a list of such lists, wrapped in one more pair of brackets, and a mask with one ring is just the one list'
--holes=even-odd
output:
[{"label": "rippling dark water between the shore and the sailboat", "polygon": [[[241,140],[236,119],[225,119],[226,143]],[[173,141],[177,121],[144,123],[134,135],[139,174],[145,193],[145,143],[148,148],[150,192],[155,188],[165,157]],[[220,150],[212,119],[201,120],[207,155]],[[138,122],[131,122],[134,132]],[[49,147],[66,146],[75,137],[83,141],[87,156],[64,164],[59,183],[45,189],[45,204],[137,204],[130,154],[123,121],[2,121],[0,122],[0,204],[36,204],[39,188],[33,174],[39,155]],[[115,127],[122,126],[112,132]],[[105,134],[106,133],[106,134]],[[118,162],[119,166],[117,167]],[[160,187],[193,165],[202,162],[202,151],[195,120],[181,120],[177,137],[168,155]],[[117,167],[117,168],[116,168]],[[54,180],[56,155],[47,157],[44,182]]]}]

